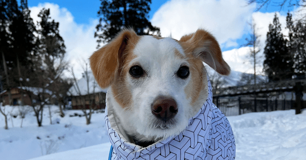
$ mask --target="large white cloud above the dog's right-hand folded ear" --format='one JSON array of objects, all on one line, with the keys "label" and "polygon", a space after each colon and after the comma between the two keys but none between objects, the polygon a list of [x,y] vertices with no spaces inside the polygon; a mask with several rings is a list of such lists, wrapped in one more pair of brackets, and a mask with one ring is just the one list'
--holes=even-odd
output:
[{"label": "large white cloud above the dog's right-hand folded ear", "polygon": [[154,14],[151,23],[160,27],[163,37],[171,34],[180,39],[205,28],[221,45],[236,45],[233,40],[243,36],[255,7],[247,6],[245,0],[171,0]]}]

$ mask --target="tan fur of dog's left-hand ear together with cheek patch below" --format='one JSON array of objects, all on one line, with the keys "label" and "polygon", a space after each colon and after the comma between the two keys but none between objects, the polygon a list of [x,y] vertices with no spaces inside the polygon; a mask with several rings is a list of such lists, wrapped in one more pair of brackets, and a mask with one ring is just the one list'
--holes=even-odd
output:
[{"label": "tan fur of dog's left-hand ear together with cheek patch below", "polygon": [[92,73],[101,88],[111,86],[117,103],[125,108],[132,101],[125,75],[129,72],[126,64],[135,58],[134,46],[140,37],[133,30],[123,30],[109,44],[97,50],[90,57]]}]

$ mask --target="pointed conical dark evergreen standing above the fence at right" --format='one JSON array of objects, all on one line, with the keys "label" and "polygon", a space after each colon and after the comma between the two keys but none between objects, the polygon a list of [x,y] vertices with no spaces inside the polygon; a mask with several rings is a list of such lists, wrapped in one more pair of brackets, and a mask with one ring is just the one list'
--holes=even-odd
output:
[{"label": "pointed conical dark evergreen standing above the fence at right", "polygon": [[293,75],[291,55],[286,47],[281,24],[275,13],[273,24],[269,25],[264,49],[264,72],[270,81],[291,79]]}]

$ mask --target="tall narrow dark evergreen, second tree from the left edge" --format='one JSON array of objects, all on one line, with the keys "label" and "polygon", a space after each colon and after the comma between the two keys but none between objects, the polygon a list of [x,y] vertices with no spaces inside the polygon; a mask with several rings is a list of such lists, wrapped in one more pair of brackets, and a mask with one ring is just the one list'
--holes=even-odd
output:
[{"label": "tall narrow dark evergreen, second tree from the left edge", "polygon": [[[32,68],[31,53],[34,53],[36,48],[36,31],[33,19],[30,17],[30,10],[28,8],[28,1],[21,0],[21,5],[15,11],[15,16],[12,17],[10,31],[12,36],[11,54],[15,56],[14,70],[17,74],[13,74],[13,80],[17,86],[23,86],[23,79],[30,78],[29,71]],[[27,66],[23,68],[22,66]],[[26,69],[27,71],[21,69]],[[13,70],[13,71],[14,71]],[[25,74],[27,73],[27,74]],[[30,74],[31,75],[31,74]],[[23,104],[23,97],[21,97],[21,104]]]}]

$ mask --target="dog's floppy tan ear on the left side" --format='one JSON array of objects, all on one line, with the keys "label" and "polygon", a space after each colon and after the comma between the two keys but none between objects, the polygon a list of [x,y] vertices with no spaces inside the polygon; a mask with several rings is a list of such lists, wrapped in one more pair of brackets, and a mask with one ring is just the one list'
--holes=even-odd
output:
[{"label": "dog's floppy tan ear on the left side", "polygon": [[123,30],[110,43],[90,56],[92,73],[101,88],[107,88],[112,84],[119,72],[120,62],[124,60],[128,44],[131,39],[137,37],[134,30]]}]

